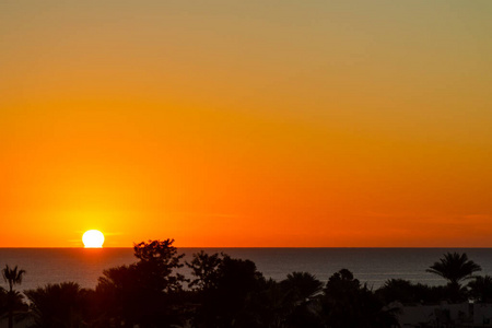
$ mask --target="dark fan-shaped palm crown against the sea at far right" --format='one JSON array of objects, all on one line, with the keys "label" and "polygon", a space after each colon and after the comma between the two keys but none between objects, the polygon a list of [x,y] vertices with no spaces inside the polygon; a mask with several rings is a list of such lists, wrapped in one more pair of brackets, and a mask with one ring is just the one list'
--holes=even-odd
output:
[{"label": "dark fan-shaped palm crown against the sea at far right", "polygon": [[482,268],[468,259],[466,253],[447,253],[438,262],[434,262],[426,272],[435,273],[449,281],[450,285],[459,286],[459,282],[472,278],[473,272]]}]

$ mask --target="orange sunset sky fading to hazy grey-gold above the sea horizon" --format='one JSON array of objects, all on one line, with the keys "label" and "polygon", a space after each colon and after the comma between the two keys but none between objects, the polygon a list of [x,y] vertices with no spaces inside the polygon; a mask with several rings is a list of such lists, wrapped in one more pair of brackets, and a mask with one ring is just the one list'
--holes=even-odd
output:
[{"label": "orange sunset sky fading to hazy grey-gold above the sea horizon", "polygon": [[492,247],[492,2],[0,1],[0,247]]}]

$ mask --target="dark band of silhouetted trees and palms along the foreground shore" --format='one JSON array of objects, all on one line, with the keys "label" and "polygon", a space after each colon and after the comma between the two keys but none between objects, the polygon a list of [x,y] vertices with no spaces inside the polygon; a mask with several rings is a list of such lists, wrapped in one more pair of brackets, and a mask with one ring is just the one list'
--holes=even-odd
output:
[{"label": "dark band of silhouetted trees and palms along the foreground shore", "polygon": [[[462,285],[480,270],[466,255],[446,254],[430,267],[447,285],[390,279],[373,291],[347,269],[324,284],[308,272],[266,279],[253,261],[225,254],[201,251],[183,262],[173,242],[134,245],[138,261],[105,270],[94,290],[74,282],[47,284],[25,291],[28,302],[13,289],[24,271],[7,266],[2,273],[9,290],[0,289],[0,313],[31,316],[33,327],[52,328],[389,328],[398,327],[395,302],[492,300],[491,277],[473,277]],[[192,279],[177,272],[184,265]]]}]

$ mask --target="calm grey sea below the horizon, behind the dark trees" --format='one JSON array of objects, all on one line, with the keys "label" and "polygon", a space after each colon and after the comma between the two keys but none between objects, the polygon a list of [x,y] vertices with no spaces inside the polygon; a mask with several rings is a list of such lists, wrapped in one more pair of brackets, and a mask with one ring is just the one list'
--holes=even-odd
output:
[{"label": "calm grey sea below the horizon, behind the dark trees", "polygon": [[[465,251],[482,267],[480,274],[492,274],[492,248],[179,248],[179,251],[189,260],[200,249],[250,259],[267,278],[276,280],[293,271],[307,271],[327,281],[332,273],[347,268],[375,289],[390,278],[445,284],[425,269],[446,251]],[[7,263],[26,270],[20,290],[63,281],[94,288],[104,269],[134,261],[132,248],[0,248],[2,268]],[[184,271],[186,274],[187,270]],[[0,285],[7,288],[3,281]]]}]

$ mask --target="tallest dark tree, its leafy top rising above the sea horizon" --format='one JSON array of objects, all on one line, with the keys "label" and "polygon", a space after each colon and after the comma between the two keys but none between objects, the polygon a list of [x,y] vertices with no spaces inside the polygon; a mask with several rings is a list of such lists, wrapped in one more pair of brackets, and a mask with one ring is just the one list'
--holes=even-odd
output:
[{"label": "tallest dark tree, its leafy top rising above the sea horizon", "polygon": [[176,324],[183,293],[183,267],[174,239],[136,244],[138,262],[110,268],[98,279],[96,294],[107,304],[107,314],[125,327],[168,327]]}]

